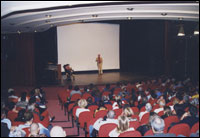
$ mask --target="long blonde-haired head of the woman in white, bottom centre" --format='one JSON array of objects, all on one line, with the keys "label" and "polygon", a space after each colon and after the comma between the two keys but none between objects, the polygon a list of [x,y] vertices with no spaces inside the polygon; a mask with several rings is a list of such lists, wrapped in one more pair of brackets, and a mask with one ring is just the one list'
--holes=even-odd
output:
[{"label": "long blonde-haired head of the woman in white, bottom centre", "polygon": [[129,129],[129,119],[126,116],[119,116],[118,122],[117,131],[119,133],[123,133]]}]

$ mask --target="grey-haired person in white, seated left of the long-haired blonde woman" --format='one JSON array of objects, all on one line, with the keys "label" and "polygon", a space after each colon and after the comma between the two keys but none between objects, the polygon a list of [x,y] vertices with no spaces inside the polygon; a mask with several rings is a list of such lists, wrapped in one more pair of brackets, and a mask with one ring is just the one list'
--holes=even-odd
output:
[{"label": "grey-haired person in white, seated left of the long-haired blonde woman", "polygon": [[108,113],[107,113],[107,116],[104,117],[104,118],[99,118],[93,125],[93,128],[96,130],[96,131],[99,131],[100,127],[102,125],[105,125],[105,124],[109,124],[109,123],[113,123],[113,124],[118,124],[118,120],[115,119],[115,111],[113,110],[110,110]]}]

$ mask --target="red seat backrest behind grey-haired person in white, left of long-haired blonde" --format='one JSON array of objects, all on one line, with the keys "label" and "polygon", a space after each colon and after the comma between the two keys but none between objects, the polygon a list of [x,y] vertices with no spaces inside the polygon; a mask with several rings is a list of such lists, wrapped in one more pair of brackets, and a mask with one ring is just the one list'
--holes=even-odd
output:
[{"label": "red seat backrest behind grey-haired person in white, left of long-haired blonde", "polygon": [[116,124],[105,124],[99,129],[99,137],[109,137],[109,133],[117,127]]}]

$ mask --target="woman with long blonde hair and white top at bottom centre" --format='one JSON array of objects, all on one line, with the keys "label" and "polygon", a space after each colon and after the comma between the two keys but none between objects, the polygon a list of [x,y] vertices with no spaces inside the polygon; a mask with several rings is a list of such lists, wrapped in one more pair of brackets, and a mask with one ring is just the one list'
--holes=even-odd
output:
[{"label": "woman with long blonde hair and white top at bottom centre", "polygon": [[118,126],[109,133],[110,137],[119,137],[121,133],[134,131],[134,128],[129,128],[129,119],[126,116],[118,117]]}]

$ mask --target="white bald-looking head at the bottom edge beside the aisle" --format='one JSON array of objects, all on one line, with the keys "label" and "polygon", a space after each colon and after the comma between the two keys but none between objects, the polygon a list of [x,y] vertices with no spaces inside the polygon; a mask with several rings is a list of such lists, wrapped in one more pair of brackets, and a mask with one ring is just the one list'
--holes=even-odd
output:
[{"label": "white bald-looking head at the bottom edge beside the aisle", "polygon": [[50,131],[51,137],[66,137],[66,132],[60,126],[54,126]]}]

